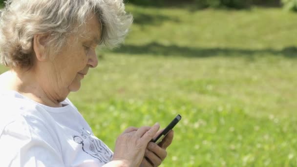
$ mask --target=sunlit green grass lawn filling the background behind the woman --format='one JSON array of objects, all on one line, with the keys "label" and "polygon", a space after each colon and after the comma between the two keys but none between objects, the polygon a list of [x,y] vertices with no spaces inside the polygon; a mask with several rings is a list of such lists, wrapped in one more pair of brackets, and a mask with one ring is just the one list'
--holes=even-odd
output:
[{"label": "sunlit green grass lawn filling the background behind the woman", "polygon": [[127,11],[125,44],[99,51],[69,97],[99,138],[113,148],[128,126],[164,127],[179,113],[163,167],[297,166],[297,14]]}]

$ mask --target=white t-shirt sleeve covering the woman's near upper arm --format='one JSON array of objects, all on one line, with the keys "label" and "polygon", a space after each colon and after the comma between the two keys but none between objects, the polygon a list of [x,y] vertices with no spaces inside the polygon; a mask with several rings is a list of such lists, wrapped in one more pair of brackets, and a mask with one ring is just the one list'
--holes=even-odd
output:
[{"label": "white t-shirt sleeve covering the woman's near upper arm", "polygon": [[2,167],[64,167],[59,140],[41,120],[20,118],[0,131]]}]

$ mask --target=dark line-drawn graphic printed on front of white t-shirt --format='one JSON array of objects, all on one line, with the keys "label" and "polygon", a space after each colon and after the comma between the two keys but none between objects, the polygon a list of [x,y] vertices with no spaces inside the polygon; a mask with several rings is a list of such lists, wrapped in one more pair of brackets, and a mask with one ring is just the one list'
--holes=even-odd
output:
[{"label": "dark line-drawn graphic printed on front of white t-shirt", "polygon": [[81,129],[79,136],[73,135],[73,140],[82,145],[85,153],[97,158],[101,163],[106,164],[111,160],[112,153],[107,146],[85,128]]}]

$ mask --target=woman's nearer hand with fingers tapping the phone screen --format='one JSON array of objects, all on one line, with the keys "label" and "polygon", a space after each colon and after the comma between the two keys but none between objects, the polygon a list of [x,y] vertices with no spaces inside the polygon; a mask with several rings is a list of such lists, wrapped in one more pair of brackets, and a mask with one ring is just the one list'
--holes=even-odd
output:
[{"label": "woman's nearer hand with fingers tapping the phone screen", "polygon": [[128,127],[116,141],[112,160],[122,161],[123,166],[139,167],[148,142],[156,135],[159,128],[159,124],[152,127]]}]

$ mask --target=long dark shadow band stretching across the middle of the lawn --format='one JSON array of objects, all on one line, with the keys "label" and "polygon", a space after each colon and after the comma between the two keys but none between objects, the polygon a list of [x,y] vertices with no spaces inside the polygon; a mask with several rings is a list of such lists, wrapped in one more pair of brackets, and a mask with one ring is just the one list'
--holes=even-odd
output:
[{"label": "long dark shadow band stretching across the middle of the lawn", "polygon": [[203,58],[212,56],[239,57],[246,56],[253,58],[261,55],[284,56],[288,58],[297,58],[297,47],[289,46],[281,50],[266,49],[238,49],[238,48],[198,48],[185,47],[177,45],[163,45],[157,42],[151,42],[146,45],[123,45],[112,51],[114,53],[125,53],[133,55],[156,55],[156,56],[180,56],[189,58]]}]

